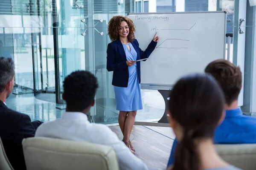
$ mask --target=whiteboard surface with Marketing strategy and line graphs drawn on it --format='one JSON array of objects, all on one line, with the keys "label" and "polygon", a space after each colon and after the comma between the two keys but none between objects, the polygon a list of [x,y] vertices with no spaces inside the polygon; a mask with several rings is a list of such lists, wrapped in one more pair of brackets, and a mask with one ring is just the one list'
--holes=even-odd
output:
[{"label": "whiteboard surface with Marketing strategy and line graphs drawn on it", "polygon": [[170,89],[182,76],[204,72],[209,62],[224,59],[226,12],[130,13],[135,38],[145,50],[157,32],[157,47],[141,61],[141,88]]}]

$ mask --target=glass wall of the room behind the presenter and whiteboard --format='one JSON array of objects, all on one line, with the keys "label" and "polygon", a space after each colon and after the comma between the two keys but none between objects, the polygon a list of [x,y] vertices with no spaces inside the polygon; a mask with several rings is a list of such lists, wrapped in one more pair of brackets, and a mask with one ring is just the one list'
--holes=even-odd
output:
[{"label": "glass wall of the room behind the presenter and whiteboard", "polygon": [[[116,123],[113,72],[106,70],[110,42],[107,28],[111,17],[131,12],[223,10],[227,11],[227,33],[233,33],[234,28],[238,29],[240,3],[235,0],[1,0],[0,55],[15,61],[15,95],[49,94],[55,102],[63,103],[63,108],[64,78],[72,71],[91,71],[99,80],[99,90],[90,115],[95,122]],[[238,55],[241,48],[239,36],[244,35],[234,34],[234,43],[231,39],[231,57],[233,53]],[[237,56],[236,63],[242,63]],[[165,111],[161,94],[142,90],[142,98],[144,109],[138,111],[136,120],[160,119]]]}]

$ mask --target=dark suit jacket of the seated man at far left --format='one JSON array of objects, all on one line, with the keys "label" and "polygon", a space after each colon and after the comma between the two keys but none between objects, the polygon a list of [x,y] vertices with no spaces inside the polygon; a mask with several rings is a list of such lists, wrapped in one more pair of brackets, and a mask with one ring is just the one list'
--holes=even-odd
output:
[{"label": "dark suit jacket of the seated man at far left", "polygon": [[0,137],[13,169],[26,170],[22,140],[35,136],[41,122],[31,122],[28,115],[12,111],[0,101]]}]

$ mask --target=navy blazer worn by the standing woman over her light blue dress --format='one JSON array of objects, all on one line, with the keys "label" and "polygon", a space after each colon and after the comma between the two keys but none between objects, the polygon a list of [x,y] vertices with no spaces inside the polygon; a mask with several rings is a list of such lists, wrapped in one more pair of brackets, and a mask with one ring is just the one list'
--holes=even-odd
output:
[{"label": "navy blazer worn by the standing woman over her light blue dress", "polygon": [[[145,51],[142,51],[139,47],[139,42],[136,39],[131,42],[131,44],[137,52],[137,60],[147,59],[157,46],[157,42],[152,40],[149,43],[148,48]],[[112,85],[125,88],[128,86],[129,71],[126,61],[125,50],[121,41],[118,39],[109,43],[107,49],[107,70],[113,71]],[[137,62],[137,71],[140,82],[140,62]]]}]

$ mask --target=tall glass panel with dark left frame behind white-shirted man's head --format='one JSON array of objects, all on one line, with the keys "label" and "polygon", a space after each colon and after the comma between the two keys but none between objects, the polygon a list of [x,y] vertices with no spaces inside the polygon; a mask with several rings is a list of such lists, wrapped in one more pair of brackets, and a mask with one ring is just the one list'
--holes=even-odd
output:
[{"label": "tall glass panel with dark left frame behind white-shirted man's head", "polygon": [[64,103],[65,77],[73,71],[85,70],[84,36],[81,34],[87,34],[84,30],[87,21],[83,1],[52,0],[52,5],[56,102]]}]

